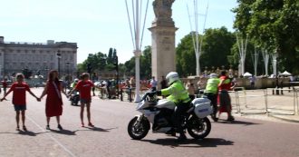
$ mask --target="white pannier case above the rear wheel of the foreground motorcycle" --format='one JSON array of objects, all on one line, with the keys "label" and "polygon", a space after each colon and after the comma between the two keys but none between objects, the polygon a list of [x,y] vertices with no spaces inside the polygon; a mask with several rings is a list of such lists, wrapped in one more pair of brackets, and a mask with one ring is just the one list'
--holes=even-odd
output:
[{"label": "white pannier case above the rear wheel of the foreground motorcycle", "polygon": [[195,106],[194,113],[197,114],[198,118],[205,118],[213,113],[213,108],[210,105],[211,101],[207,98],[197,98],[192,103]]}]

